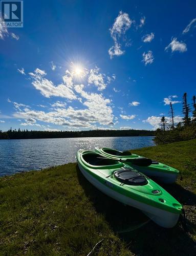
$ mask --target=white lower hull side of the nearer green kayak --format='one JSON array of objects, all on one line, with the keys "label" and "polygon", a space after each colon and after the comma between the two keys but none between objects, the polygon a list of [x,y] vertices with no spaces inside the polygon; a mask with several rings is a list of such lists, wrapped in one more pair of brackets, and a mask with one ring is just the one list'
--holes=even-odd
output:
[{"label": "white lower hull side of the nearer green kayak", "polygon": [[175,226],[179,219],[179,214],[175,214],[172,212],[168,212],[163,209],[159,209],[157,207],[145,204],[143,202],[139,202],[137,200],[134,200],[130,197],[127,197],[125,195],[122,195],[118,193],[117,191],[111,189],[111,187],[108,187],[107,185],[99,182],[95,177],[93,177],[79,162],[78,162],[79,169],[83,176],[97,189],[99,189],[102,193],[105,195],[132,207],[135,207],[137,209],[140,209],[143,211],[143,213],[148,216],[151,220],[153,220],[156,224],[165,227],[165,228],[172,228]]}]

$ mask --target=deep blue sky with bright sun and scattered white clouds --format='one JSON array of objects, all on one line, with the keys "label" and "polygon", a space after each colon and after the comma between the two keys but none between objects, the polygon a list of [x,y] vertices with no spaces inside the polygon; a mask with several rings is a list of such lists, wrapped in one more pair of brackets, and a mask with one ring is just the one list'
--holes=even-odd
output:
[{"label": "deep blue sky with bright sun and scattered white clouds", "polygon": [[[0,27],[0,129],[156,129],[195,92],[195,1],[24,1]],[[169,121],[169,118],[168,118]]]}]

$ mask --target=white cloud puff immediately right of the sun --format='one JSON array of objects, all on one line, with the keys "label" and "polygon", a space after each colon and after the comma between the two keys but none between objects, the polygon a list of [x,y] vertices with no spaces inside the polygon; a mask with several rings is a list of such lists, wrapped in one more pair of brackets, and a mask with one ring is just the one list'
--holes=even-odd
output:
[{"label": "white cloud puff immediately right of the sun", "polygon": [[90,70],[90,75],[88,78],[89,84],[95,84],[98,87],[98,91],[102,91],[106,88],[107,84],[111,82],[111,77],[106,77],[105,74],[99,73],[99,68],[95,67],[94,69]]}]

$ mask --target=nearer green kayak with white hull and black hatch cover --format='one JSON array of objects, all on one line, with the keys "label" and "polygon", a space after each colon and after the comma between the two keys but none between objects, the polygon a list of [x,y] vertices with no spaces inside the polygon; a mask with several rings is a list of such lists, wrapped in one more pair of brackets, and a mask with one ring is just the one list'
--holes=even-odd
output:
[{"label": "nearer green kayak with white hull and black hatch cover", "polygon": [[182,205],[129,165],[85,150],[78,151],[77,162],[84,177],[107,196],[142,210],[162,227],[170,228],[178,222]]}]

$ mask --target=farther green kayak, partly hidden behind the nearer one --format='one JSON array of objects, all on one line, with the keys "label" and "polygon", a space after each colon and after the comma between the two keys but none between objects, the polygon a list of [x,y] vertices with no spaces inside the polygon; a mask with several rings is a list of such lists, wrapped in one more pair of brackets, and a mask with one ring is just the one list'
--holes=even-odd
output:
[{"label": "farther green kayak, partly hidden behind the nearer one", "polygon": [[107,147],[96,147],[95,151],[101,155],[104,155],[105,157],[123,161],[137,169],[139,172],[163,183],[174,183],[176,182],[179,175],[179,170],[171,166],[151,160],[149,158],[132,154],[129,151],[122,152]]}]

